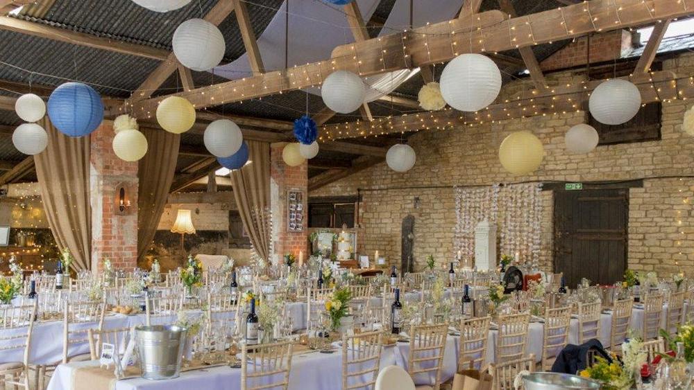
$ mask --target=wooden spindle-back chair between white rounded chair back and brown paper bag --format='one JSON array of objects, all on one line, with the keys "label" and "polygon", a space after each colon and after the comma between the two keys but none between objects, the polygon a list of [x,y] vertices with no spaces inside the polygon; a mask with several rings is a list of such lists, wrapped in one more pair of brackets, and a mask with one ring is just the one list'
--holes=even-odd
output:
[{"label": "wooden spindle-back chair between white rounded chair back and brown paper bag", "polygon": [[[412,377],[412,380],[415,380],[417,375],[429,377],[433,373],[434,383],[430,383],[430,386],[433,390],[439,390],[447,335],[448,323],[419,325],[410,328],[407,373]],[[428,380],[431,381],[431,378]]]}]

